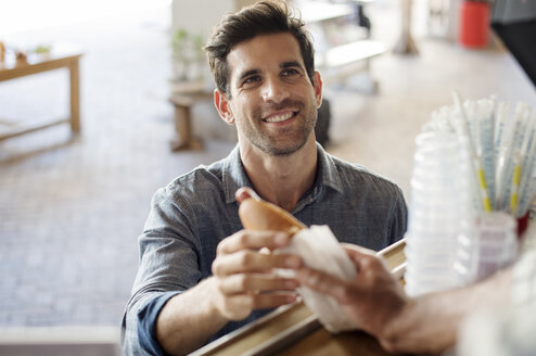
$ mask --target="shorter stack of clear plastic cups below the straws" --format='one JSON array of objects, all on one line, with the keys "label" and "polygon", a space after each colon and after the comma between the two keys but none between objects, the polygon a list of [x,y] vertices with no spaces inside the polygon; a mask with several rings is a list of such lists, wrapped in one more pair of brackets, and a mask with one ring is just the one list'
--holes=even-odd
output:
[{"label": "shorter stack of clear plastic cups below the straws", "polygon": [[515,219],[502,212],[483,213],[474,232],[460,234],[455,271],[460,285],[482,280],[512,263],[518,255]]}]

